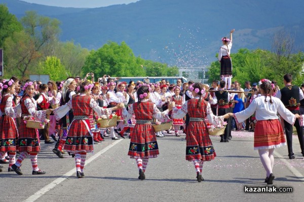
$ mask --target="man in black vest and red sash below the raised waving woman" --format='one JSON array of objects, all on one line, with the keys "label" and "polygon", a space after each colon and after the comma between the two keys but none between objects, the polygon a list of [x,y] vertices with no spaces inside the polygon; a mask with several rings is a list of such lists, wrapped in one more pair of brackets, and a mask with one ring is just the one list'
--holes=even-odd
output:
[{"label": "man in black vest and red sash below the raised waving woman", "polygon": [[[222,80],[219,82],[219,89],[216,91],[215,100],[217,102],[217,115],[222,116],[230,112],[229,102],[231,94],[225,90],[226,83]],[[214,101],[215,101],[214,100]],[[224,134],[220,136],[220,142],[229,142],[229,135],[231,130],[231,118],[224,119],[227,122]]]}]

